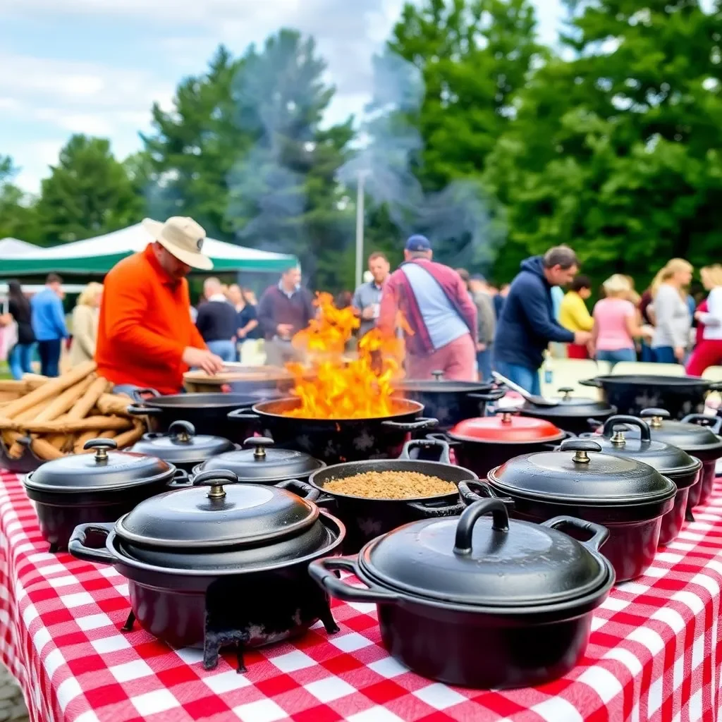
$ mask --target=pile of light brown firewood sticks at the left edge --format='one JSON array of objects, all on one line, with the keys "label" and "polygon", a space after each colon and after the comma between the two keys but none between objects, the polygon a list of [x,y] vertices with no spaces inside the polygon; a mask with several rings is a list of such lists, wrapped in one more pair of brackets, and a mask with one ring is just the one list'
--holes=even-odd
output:
[{"label": "pile of light brown firewood sticks at the left edge", "polygon": [[129,397],[110,393],[112,386],[93,361],[58,378],[0,380],[0,434],[9,456],[22,456],[28,443],[43,459],[84,453],[93,438],[112,438],[118,448],[134,444],[145,424],[128,414]]}]

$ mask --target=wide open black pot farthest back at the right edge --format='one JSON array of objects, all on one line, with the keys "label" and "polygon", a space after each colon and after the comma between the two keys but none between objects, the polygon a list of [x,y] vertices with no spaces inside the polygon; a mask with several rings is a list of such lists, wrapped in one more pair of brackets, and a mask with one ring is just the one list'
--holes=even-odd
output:
[{"label": "wide open black pot farthest back at the right edge", "polygon": [[604,391],[607,403],[617,406],[620,414],[639,416],[642,409],[666,409],[673,419],[687,414],[701,414],[710,391],[721,391],[722,381],[699,376],[606,375],[580,381]]}]

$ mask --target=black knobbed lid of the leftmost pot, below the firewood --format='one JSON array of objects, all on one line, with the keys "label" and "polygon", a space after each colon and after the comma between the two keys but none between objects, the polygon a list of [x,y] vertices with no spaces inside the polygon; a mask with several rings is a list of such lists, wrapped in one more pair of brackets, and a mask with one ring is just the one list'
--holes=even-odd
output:
[{"label": "black knobbed lid of the leftmost pot, below the firewood", "polygon": [[48,492],[94,492],[129,489],[170,479],[175,467],[156,456],[115,451],[113,439],[91,439],[92,454],[69,454],[47,461],[25,477],[29,489]]}]

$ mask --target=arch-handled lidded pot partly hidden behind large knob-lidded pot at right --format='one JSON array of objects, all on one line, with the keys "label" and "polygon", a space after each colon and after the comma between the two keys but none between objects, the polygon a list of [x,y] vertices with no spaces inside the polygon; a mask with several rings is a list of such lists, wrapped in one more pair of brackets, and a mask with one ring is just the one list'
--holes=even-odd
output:
[{"label": "arch-handled lidded pot partly hidden behind large knob-lidded pot at right", "polygon": [[[627,426],[638,429],[639,435],[627,438],[622,428]],[[649,425],[633,416],[613,416],[607,419],[601,435],[594,435],[593,440],[604,453],[642,461],[674,482],[677,487],[674,507],[662,517],[659,531],[659,543],[671,544],[682,531],[687,500],[691,490],[698,485],[702,462],[677,446],[653,441]]]}]

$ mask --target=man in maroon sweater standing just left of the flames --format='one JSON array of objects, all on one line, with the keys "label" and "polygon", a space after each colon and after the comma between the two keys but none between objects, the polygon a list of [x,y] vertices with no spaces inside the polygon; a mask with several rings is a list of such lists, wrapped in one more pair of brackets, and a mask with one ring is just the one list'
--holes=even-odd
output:
[{"label": "man in maroon sweater standing just left of the flames", "polygon": [[301,286],[301,269],[284,271],[275,286],[269,286],[258,302],[258,325],[266,339],[266,363],[282,366],[299,359],[291,339],[315,316],[313,298]]}]

